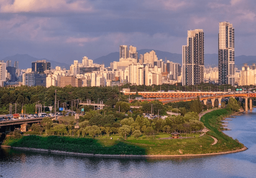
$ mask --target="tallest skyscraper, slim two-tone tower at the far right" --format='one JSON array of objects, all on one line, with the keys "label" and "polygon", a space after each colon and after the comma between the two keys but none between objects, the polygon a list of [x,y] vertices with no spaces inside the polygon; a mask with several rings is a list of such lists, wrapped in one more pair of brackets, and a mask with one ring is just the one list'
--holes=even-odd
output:
[{"label": "tallest skyscraper, slim two-tone tower at the far right", "polygon": [[219,23],[218,69],[219,84],[235,84],[235,31],[228,22]]}]

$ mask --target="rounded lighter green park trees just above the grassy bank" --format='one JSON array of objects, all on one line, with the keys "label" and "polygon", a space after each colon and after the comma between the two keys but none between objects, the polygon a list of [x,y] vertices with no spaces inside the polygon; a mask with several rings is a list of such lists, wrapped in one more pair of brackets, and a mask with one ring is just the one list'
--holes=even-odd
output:
[{"label": "rounded lighter green park trees just above the grassy bank", "polygon": [[[90,112],[88,112],[89,114]],[[99,115],[98,113],[90,113],[91,118],[85,116],[79,123],[80,128],[75,129],[74,123],[54,123],[49,118],[44,118],[41,125],[32,124],[28,129],[34,132],[46,135],[66,135],[66,136],[82,136],[90,135],[111,135],[119,134],[120,137],[126,139],[129,135],[139,137],[146,135],[153,137],[159,132],[171,133],[179,131],[181,133],[198,132],[204,128],[204,124],[199,121],[197,113],[188,112],[183,116],[170,116],[166,119],[148,119],[143,116],[124,118],[120,122],[116,122],[114,115]],[[93,115],[94,114],[94,115]]]}]

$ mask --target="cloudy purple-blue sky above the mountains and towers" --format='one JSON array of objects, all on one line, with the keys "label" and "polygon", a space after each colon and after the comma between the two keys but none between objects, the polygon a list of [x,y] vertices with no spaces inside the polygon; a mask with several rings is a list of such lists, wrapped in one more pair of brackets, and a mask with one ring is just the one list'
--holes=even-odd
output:
[{"label": "cloudy purple-blue sky above the mountains and towers", "polygon": [[182,53],[187,31],[204,30],[218,53],[218,23],[235,28],[235,56],[256,55],[255,0],[0,0],[0,59],[16,54],[70,63],[119,45]]}]

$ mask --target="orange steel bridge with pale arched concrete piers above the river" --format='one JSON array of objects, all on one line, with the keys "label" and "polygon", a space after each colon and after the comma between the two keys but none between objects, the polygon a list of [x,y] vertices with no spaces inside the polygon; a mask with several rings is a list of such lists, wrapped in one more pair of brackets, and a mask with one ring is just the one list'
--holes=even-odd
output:
[{"label": "orange steel bridge with pale arched concrete piers above the river", "polygon": [[[136,92],[124,92],[125,95],[134,95]],[[140,101],[152,101],[159,100],[163,104],[169,102],[180,102],[180,101],[191,101],[195,100],[197,97],[204,104],[208,100],[211,100],[212,106],[214,106],[214,101],[218,100],[219,108],[221,107],[222,98],[235,98],[242,97],[245,98],[245,110],[248,111],[248,98],[250,98],[250,110],[252,110],[252,98],[256,97],[256,93],[228,93],[228,92],[138,92],[142,95],[144,99]],[[133,100],[130,100],[130,102]]]}]

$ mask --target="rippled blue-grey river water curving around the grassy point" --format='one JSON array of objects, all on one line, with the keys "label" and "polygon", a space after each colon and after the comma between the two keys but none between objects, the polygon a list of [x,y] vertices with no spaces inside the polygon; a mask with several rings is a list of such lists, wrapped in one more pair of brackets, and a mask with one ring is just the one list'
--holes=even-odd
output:
[{"label": "rippled blue-grey river water curving around the grassy point", "polygon": [[189,158],[95,158],[0,149],[0,177],[10,178],[256,178],[256,109],[228,121],[248,150]]}]

